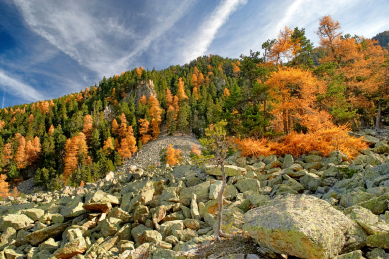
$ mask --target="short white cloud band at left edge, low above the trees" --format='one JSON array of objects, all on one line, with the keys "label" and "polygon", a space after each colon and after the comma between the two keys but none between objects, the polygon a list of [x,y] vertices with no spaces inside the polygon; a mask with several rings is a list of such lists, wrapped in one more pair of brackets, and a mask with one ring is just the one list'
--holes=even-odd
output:
[{"label": "short white cloud band at left edge, low above the trees", "polygon": [[45,99],[45,96],[42,93],[18,79],[6,75],[3,70],[0,70],[0,87],[13,96],[20,97],[27,101],[35,102]]}]

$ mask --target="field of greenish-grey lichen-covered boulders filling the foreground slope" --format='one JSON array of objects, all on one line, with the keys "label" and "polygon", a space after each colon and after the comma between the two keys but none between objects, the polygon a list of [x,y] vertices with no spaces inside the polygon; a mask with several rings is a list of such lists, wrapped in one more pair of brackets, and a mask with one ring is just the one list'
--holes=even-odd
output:
[{"label": "field of greenish-grey lichen-covered boulders filling the foreground slope", "polygon": [[223,242],[213,236],[221,171],[210,165],[128,166],[84,187],[10,197],[0,259],[389,258],[389,145],[369,141],[354,159],[229,157]]}]

